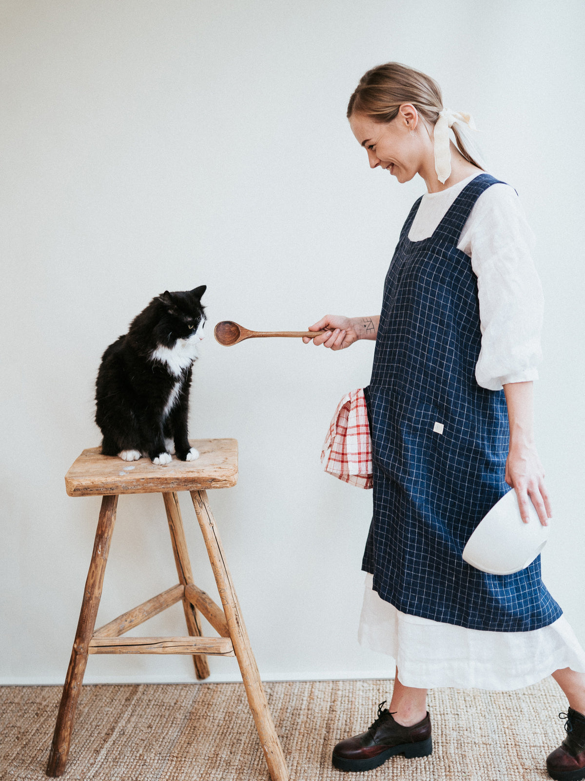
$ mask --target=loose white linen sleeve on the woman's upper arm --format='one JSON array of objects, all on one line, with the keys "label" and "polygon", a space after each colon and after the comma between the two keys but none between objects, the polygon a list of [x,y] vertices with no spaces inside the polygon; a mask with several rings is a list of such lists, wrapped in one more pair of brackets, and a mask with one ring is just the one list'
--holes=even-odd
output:
[{"label": "loose white linen sleeve on the woman's upper arm", "polygon": [[544,300],[534,244],[513,187],[492,184],[480,194],[458,247],[470,255],[477,276],[481,349],[475,377],[490,391],[538,378]]}]

